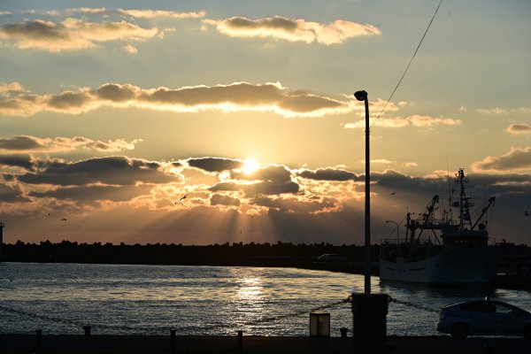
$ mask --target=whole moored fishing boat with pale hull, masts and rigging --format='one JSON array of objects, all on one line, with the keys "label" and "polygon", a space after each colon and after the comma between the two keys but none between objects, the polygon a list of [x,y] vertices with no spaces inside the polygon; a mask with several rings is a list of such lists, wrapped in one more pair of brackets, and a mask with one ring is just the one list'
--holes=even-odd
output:
[{"label": "whole moored fishing boat with pale hull, masts and rigging", "polygon": [[[442,285],[494,281],[497,251],[489,245],[488,225],[496,198],[491,196],[473,209],[473,200],[465,190],[468,181],[464,170],[459,169],[455,178],[458,198],[448,198],[449,208],[440,217],[435,216],[439,196],[434,196],[417,218],[406,213],[404,239],[396,235],[381,242],[382,281]],[[452,219],[452,208],[458,210],[457,220]]]}]

